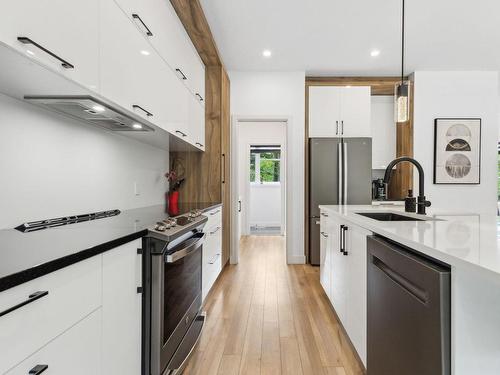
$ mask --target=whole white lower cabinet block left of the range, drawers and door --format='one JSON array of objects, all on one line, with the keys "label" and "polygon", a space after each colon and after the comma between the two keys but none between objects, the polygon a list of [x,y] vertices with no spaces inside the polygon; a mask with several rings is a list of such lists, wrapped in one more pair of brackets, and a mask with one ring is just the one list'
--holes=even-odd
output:
[{"label": "whole white lower cabinet block left of the range, drawers and door", "polygon": [[129,242],[1,292],[0,311],[32,301],[0,317],[0,374],[37,374],[44,366],[50,375],[140,374],[141,245]]}]

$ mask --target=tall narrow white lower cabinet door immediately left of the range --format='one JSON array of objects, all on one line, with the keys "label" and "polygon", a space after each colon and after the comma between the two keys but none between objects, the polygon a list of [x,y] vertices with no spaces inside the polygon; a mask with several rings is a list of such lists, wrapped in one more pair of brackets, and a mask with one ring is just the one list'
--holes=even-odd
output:
[{"label": "tall narrow white lower cabinet door immediately left of the range", "polygon": [[102,370],[106,375],[141,373],[142,258],[136,240],[102,259]]}]

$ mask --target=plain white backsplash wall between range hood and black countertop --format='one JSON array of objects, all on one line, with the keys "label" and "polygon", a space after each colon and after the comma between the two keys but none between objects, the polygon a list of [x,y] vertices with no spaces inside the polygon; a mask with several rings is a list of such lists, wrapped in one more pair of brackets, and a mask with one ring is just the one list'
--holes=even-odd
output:
[{"label": "plain white backsplash wall between range hood and black countertop", "polygon": [[0,129],[0,228],[164,202],[167,151],[4,95]]}]

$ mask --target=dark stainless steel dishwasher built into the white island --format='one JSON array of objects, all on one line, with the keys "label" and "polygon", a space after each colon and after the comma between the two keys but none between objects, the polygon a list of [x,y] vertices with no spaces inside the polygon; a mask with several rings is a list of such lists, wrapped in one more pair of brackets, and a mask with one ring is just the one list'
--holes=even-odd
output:
[{"label": "dark stainless steel dishwasher built into the white island", "polygon": [[368,375],[449,375],[450,268],[368,238]]}]

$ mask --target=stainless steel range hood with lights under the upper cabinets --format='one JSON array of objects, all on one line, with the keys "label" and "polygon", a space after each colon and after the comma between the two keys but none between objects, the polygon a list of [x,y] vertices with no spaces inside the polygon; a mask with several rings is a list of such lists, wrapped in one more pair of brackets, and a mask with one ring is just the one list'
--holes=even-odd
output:
[{"label": "stainless steel range hood with lights under the upper cabinets", "polygon": [[144,121],[111,107],[92,96],[25,96],[33,104],[112,131],[154,131]]}]

